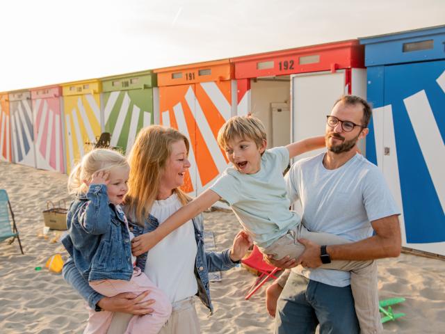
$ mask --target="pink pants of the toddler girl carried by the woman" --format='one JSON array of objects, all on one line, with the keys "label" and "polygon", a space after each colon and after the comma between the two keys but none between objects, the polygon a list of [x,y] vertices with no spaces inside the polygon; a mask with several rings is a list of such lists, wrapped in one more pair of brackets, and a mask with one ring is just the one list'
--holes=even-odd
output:
[{"label": "pink pants of the toddler girl carried by the woman", "polygon": [[[133,292],[141,294],[147,290],[149,295],[145,298],[154,299],[155,302],[150,305],[154,311],[150,315],[134,315],[127,326],[126,334],[144,333],[155,334],[161,331],[161,328],[172,313],[172,305],[167,296],[156,287],[145,273],[141,273],[139,268],[135,268],[131,280],[94,280],[90,282],[90,287],[107,297],[113,297],[122,292]],[[113,312],[102,311],[95,312],[90,310],[88,324],[83,334],[106,334],[111,324]]]}]

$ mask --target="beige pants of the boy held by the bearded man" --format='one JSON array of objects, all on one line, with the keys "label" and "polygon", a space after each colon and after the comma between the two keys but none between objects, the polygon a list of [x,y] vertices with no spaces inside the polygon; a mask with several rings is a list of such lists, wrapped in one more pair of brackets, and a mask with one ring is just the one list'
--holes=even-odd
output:
[{"label": "beige pants of the boy held by the bearded man", "polygon": [[[305,246],[297,241],[301,238],[314,241],[318,245],[350,243],[338,235],[309,232],[300,224],[296,230],[289,231],[272,245],[259,248],[264,254],[274,255],[275,259],[281,259],[286,255],[296,259],[305,250]],[[321,268],[350,271],[350,286],[353,290],[355,313],[359,320],[360,332],[362,334],[382,333],[383,327],[378,310],[378,278],[375,261],[335,260],[330,264],[322,264]]]}]

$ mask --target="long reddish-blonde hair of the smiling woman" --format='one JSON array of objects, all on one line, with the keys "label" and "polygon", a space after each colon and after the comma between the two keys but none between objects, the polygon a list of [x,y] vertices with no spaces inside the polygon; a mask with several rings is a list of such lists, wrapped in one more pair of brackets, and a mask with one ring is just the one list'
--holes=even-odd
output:
[{"label": "long reddish-blonde hair of the smiling woman", "polygon": [[[156,200],[165,164],[172,153],[172,144],[177,141],[184,141],[188,154],[190,144],[184,134],[170,127],[151,125],[140,130],[131,148],[129,192],[125,203],[128,205],[127,212],[141,225]],[[173,191],[177,193],[182,205],[190,200],[181,189],[176,188]]]}]

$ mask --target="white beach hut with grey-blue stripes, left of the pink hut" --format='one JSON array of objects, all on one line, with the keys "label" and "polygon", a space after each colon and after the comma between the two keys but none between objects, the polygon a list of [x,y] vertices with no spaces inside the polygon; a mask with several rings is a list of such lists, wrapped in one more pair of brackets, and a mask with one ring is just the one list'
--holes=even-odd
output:
[{"label": "white beach hut with grey-blue stripes, left of the pink hut", "polygon": [[13,162],[35,167],[35,144],[31,92],[16,90],[9,93]]}]

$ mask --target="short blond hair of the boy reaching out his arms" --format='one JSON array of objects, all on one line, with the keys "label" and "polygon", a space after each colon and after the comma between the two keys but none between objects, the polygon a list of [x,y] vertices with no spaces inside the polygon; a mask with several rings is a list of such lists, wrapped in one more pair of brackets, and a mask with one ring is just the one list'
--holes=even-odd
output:
[{"label": "short blond hair of the boy reaching out his arms", "polygon": [[236,137],[243,140],[250,139],[259,148],[263,145],[263,141],[266,141],[266,129],[263,122],[255,116],[234,116],[229,118],[218,132],[218,145],[225,149],[229,145],[229,141]]}]

